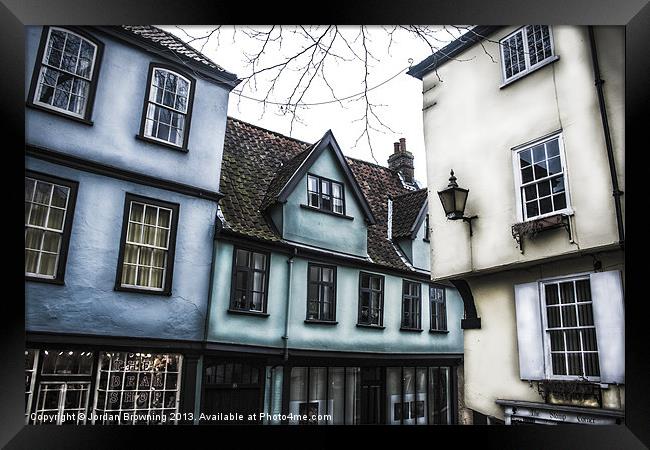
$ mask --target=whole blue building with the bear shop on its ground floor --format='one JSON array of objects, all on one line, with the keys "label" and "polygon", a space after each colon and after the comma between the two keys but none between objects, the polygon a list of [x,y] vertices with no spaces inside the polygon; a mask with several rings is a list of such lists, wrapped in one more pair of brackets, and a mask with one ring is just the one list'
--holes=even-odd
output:
[{"label": "whole blue building with the bear shop on its ground floor", "polygon": [[25,69],[26,421],[176,422],[237,77],[151,26],[27,27]]}]

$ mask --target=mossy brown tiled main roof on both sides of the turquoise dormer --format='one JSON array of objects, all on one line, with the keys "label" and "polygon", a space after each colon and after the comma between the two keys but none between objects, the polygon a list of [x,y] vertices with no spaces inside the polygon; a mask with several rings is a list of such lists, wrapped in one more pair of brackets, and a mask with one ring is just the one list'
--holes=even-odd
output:
[{"label": "mossy brown tiled main roof on both sides of the turquoise dormer", "polygon": [[[273,191],[273,197],[277,196],[281,188],[272,189],[272,185],[286,185],[287,174],[295,173],[322,141],[309,144],[229,117],[220,185],[224,194],[220,203],[224,230],[256,240],[282,242],[264,213],[267,193]],[[388,196],[410,191],[396,171],[349,157],[345,162],[375,218],[375,223],[368,225],[368,256],[377,265],[413,271],[387,236]]]}]

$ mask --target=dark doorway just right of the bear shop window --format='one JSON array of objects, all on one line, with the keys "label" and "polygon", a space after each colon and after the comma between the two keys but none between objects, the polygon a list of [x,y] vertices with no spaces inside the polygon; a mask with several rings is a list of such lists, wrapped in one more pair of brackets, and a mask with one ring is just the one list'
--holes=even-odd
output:
[{"label": "dark doorway just right of the bear shop window", "polygon": [[204,424],[255,424],[264,401],[264,368],[234,361],[209,364],[204,372]]}]

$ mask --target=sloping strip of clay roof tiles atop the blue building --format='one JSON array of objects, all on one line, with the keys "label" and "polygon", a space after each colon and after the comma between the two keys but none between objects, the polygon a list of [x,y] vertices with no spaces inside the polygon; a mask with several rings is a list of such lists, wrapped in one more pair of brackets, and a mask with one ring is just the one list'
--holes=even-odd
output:
[{"label": "sloping strip of clay roof tiles atop the blue building", "polygon": [[219,78],[222,78],[233,87],[239,82],[237,75],[228,72],[203,53],[185,43],[179,37],[161,30],[160,28],[154,27],[153,25],[121,25],[119,27],[111,28],[116,31],[122,30],[123,32],[127,32],[130,35],[135,36],[137,39],[146,41],[156,47],[171,50],[177,58],[180,57],[186,62],[198,63],[205,69],[215,73]]}]

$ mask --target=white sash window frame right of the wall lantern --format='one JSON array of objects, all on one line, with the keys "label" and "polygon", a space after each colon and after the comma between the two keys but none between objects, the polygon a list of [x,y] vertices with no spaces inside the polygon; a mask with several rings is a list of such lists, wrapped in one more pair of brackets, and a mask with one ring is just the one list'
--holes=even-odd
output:
[{"label": "white sash window frame right of the wall lantern", "polygon": [[[554,139],[557,139],[558,141],[558,147],[560,151],[560,163],[562,164],[562,176],[564,177],[564,198],[566,200],[566,206],[562,209],[558,209],[556,211],[551,211],[545,214],[538,214],[537,216],[533,217],[526,217],[526,213],[524,212],[525,208],[525,202],[522,196],[522,185],[524,184],[521,179],[521,168],[519,166],[519,153],[521,153],[524,150],[529,150],[532,147],[535,147],[536,145],[539,144],[544,144],[546,142],[552,141]],[[531,163],[532,164],[532,163]],[[512,148],[512,168],[514,171],[514,180],[515,180],[515,198],[517,202],[517,219],[518,222],[530,222],[534,221],[537,219],[543,219],[544,217],[550,217],[550,216],[555,216],[558,214],[565,214],[565,215],[573,215],[573,207],[571,206],[571,194],[570,194],[570,189],[569,189],[569,176],[568,176],[568,168],[566,164],[566,156],[564,152],[564,138],[562,136],[562,132],[558,131],[549,135],[546,135],[540,139],[536,139],[532,142],[528,142],[526,144],[518,145],[516,147]],[[555,177],[556,175],[553,176],[548,176],[545,177],[544,179],[548,179],[551,177]],[[534,180],[532,183],[537,184],[537,182],[540,180]],[[551,194],[552,197],[552,194]]]}]

